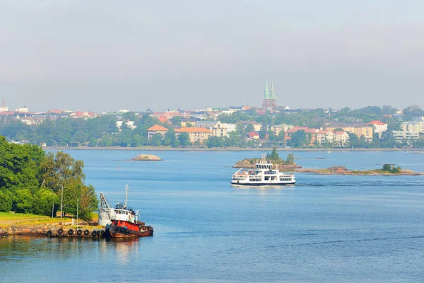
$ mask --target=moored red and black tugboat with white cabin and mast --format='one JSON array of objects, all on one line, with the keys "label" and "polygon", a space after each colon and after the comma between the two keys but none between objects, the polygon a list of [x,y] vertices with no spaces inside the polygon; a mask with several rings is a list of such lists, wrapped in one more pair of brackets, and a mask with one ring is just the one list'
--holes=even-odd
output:
[{"label": "moored red and black tugboat with white cabin and mast", "polygon": [[139,211],[126,206],[128,185],[125,187],[125,203],[112,207],[100,192],[99,225],[106,226],[103,238],[134,238],[153,236],[153,227],[139,221]]}]

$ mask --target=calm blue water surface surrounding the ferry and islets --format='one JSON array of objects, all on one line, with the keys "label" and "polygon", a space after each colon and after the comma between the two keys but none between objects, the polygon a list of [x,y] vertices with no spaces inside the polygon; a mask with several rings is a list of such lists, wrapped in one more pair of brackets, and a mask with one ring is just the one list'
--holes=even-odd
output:
[{"label": "calm blue water surface surrounding the ferry and islets", "polygon": [[[424,281],[424,176],[298,173],[293,187],[238,188],[230,166],[261,151],[66,152],[112,204],[128,184],[155,236],[0,238],[0,282]],[[119,161],[143,153],[165,161]],[[307,168],[424,171],[424,154],[407,152],[295,157]]]}]

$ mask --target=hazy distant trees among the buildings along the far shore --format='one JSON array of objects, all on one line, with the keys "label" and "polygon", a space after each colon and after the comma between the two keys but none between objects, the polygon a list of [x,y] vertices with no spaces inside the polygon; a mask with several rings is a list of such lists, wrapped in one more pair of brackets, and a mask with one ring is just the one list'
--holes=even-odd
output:
[{"label": "hazy distant trees among the buildings along the far shore", "polygon": [[[392,130],[399,130],[401,121],[392,115],[397,109],[384,105],[382,108],[377,106],[368,106],[357,110],[343,108],[341,110],[314,109],[314,110],[298,110],[292,112],[257,114],[255,109],[245,112],[233,112],[230,115],[221,114],[218,119],[223,123],[236,124],[235,132],[228,133],[228,137],[210,137],[204,145],[208,147],[254,147],[254,146],[291,146],[303,147],[310,146],[310,135],[305,132],[293,134],[291,139],[284,141],[284,132],[278,135],[271,130],[273,125],[294,125],[307,126],[319,129],[324,127],[328,122],[332,121],[355,121],[370,122],[371,120],[381,120],[388,125],[387,132],[382,134],[381,139],[375,137],[371,143],[365,141],[363,137],[356,137],[355,134],[349,133],[349,143],[346,146],[360,148],[378,148],[378,147],[397,147],[409,146],[411,142],[413,146],[424,146],[422,139],[417,141],[402,141],[396,143],[392,137]],[[411,117],[421,115],[422,110],[417,105],[412,105],[403,110],[404,120]],[[117,127],[117,120],[134,121],[135,129],[130,129],[126,123],[123,123],[121,129]],[[192,144],[189,141],[187,133],[179,134],[175,137],[175,127],[180,127],[182,122],[186,122],[187,126],[192,126],[194,120],[188,120],[183,117],[173,117],[168,122],[161,123],[157,118],[148,114],[136,115],[135,112],[126,112],[121,117],[110,115],[102,115],[100,117],[84,120],[82,118],[58,117],[56,120],[47,117],[45,122],[40,125],[25,125],[20,120],[11,117],[3,117],[0,119],[0,134],[16,141],[29,141],[30,144],[45,143],[47,146],[172,146],[175,148],[181,146],[200,146],[199,142]],[[261,124],[259,130],[260,141],[252,141],[246,139],[249,132],[254,131],[254,127],[242,122],[257,122]],[[153,125],[163,125],[168,129],[167,134],[155,134],[153,138],[148,139],[147,129]],[[268,139],[264,139],[268,137]],[[313,144],[315,147],[334,147],[340,144]]]}]

